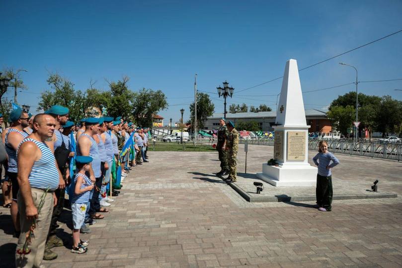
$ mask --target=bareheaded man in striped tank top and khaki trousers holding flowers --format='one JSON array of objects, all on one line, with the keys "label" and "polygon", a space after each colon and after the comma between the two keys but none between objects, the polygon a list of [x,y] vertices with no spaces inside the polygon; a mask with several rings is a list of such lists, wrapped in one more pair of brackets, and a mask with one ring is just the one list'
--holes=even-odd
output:
[{"label": "bareheaded man in striped tank top and khaki trousers holding flowers", "polygon": [[[56,120],[52,116],[36,115],[33,133],[21,142],[17,150],[21,235],[15,253],[16,267],[41,267],[53,206],[57,204],[54,191],[61,186],[62,178],[53,152],[44,143],[53,136],[55,126]],[[44,204],[38,211],[42,199]],[[31,252],[20,255],[18,251],[23,248],[34,218],[36,228],[29,246]]]}]

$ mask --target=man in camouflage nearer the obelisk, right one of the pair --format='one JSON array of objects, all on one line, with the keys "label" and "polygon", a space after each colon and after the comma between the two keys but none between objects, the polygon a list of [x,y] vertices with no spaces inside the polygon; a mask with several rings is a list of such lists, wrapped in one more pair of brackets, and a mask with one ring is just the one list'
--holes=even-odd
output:
[{"label": "man in camouflage nearer the obelisk, right one of the pair", "polygon": [[236,179],[236,158],[239,151],[239,132],[235,129],[235,124],[232,121],[226,123],[228,127],[228,137],[226,139],[226,151],[228,152],[228,166],[229,166],[229,177],[227,180],[232,180],[232,182],[237,181]]}]

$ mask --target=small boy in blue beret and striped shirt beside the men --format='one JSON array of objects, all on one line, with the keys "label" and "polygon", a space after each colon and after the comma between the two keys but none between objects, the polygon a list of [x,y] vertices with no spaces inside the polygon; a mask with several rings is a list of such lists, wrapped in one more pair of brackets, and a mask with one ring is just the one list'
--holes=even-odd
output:
[{"label": "small boy in blue beret and striped shirt beside the men", "polygon": [[78,254],[85,253],[89,244],[88,241],[80,240],[80,229],[85,219],[89,193],[94,186],[92,181],[85,175],[85,172],[88,172],[90,169],[91,162],[92,157],[90,156],[76,157],[78,172],[74,176],[74,192],[71,198],[71,210],[73,215],[73,248],[71,252]]}]

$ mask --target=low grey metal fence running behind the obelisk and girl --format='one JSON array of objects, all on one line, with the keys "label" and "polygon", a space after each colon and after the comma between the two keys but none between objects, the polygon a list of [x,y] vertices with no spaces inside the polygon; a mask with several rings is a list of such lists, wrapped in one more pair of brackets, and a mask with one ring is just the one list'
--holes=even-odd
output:
[{"label": "low grey metal fence running behind the obelisk and girl", "polygon": [[[254,145],[274,144],[274,140],[268,139],[249,139],[240,140],[240,143]],[[357,156],[368,156],[371,158],[382,158],[402,161],[402,143],[370,142],[365,140],[325,140],[328,143],[329,151],[338,154],[348,154]],[[320,140],[309,140],[309,149],[318,151]]]}]

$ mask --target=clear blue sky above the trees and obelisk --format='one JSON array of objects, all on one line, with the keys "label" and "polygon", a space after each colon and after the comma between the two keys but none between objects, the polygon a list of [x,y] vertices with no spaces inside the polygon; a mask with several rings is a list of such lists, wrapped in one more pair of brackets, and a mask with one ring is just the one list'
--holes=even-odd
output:
[{"label": "clear blue sky above the trees and obelisk", "polygon": [[[345,1],[1,1],[0,69],[25,69],[28,86],[18,102],[35,109],[49,89],[49,73],[76,89],[89,81],[107,90],[109,81],[130,77],[129,88],[161,89],[171,105],[160,114],[189,116],[198,89],[216,92],[227,80],[235,88],[228,103],[267,104],[275,110],[282,80],[237,93],[283,75],[288,59],[299,69],[402,29],[400,0]],[[402,32],[300,72],[302,90],[355,80],[402,78]],[[361,83],[365,94],[402,100],[402,80]],[[305,93],[306,108],[322,109],[354,85]],[[6,96],[12,97],[10,90]],[[223,99],[211,94],[215,111]],[[176,105],[178,104],[178,105]],[[229,105],[228,104],[228,105]],[[165,123],[167,123],[167,120]]]}]

